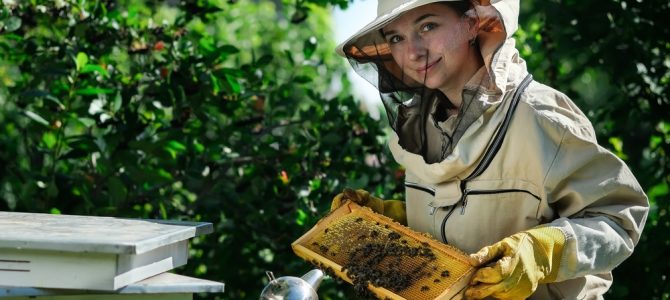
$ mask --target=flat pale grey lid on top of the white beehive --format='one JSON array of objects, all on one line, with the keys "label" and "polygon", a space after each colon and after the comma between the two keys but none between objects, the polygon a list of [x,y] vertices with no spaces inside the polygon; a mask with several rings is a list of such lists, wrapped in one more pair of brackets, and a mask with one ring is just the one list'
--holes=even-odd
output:
[{"label": "flat pale grey lid on top of the white beehive", "polygon": [[142,254],[212,231],[206,222],[0,212],[0,249]]}]

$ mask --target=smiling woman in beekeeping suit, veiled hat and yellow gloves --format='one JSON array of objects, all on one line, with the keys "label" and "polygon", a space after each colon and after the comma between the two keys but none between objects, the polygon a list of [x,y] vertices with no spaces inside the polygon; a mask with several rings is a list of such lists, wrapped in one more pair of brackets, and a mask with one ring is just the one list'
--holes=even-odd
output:
[{"label": "smiling woman in beekeeping suit, veiled hat and yellow gloves", "polygon": [[406,202],[355,200],[474,253],[467,297],[602,298],[648,201],[575,104],[532,80],[510,38],[519,1],[378,2],[337,50],[380,91]]}]

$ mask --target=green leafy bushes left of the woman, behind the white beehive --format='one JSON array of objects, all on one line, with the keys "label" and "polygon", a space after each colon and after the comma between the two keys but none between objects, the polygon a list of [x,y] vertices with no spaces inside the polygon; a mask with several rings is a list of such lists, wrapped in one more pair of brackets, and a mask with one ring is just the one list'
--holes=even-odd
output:
[{"label": "green leafy bushes left of the woman, behind the white beehive", "polygon": [[397,166],[341,91],[325,8],[186,2],[2,9],[0,209],[213,222],[180,272],[257,298],[266,270],[310,268],[290,244],[335,194],[393,192]]}]

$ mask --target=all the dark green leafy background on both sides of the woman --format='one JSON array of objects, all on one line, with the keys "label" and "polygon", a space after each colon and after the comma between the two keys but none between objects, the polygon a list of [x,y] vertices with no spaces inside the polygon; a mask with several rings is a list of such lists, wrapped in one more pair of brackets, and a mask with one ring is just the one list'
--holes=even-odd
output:
[{"label": "all the dark green leafy background on both sides of the woman", "polygon": [[[310,269],[290,243],[344,187],[402,197],[385,121],[333,52],[329,9],[348,1],[16,2],[0,10],[0,209],[212,222],[177,271],[225,282],[203,298],[255,299],[266,270]],[[663,0],[522,1],[529,69],[649,194],[608,299],[670,298],[668,15]]]}]

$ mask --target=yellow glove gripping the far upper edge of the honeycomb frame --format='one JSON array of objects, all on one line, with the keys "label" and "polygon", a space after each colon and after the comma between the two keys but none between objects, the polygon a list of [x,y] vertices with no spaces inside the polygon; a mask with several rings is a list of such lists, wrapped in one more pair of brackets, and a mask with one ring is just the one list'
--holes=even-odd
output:
[{"label": "yellow glove gripping the far upper edge of the honeycomb frame", "polygon": [[330,211],[336,210],[347,200],[351,200],[361,206],[367,206],[378,214],[385,215],[400,224],[407,225],[407,213],[405,212],[405,202],[403,201],[382,200],[361,189],[344,189],[344,192],[333,198],[333,202],[330,203]]}]

